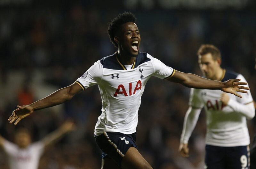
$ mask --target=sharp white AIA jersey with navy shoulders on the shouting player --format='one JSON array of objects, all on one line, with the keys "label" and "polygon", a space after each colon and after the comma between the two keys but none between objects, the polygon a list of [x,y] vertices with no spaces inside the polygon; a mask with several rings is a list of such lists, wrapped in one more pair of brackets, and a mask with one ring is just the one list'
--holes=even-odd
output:
[{"label": "sharp white AIA jersey with navy shoulders on the shouting player", "polygon": [[172,77],[175,72],[147,53],[139,53],[133,65],[126,67],[116,54],[110,55],[95,62],[76,80],[83,89],[99,86],[102,109],[95,126],[96,136],[104,132],[136,132],[141,95],[148,79]]}]

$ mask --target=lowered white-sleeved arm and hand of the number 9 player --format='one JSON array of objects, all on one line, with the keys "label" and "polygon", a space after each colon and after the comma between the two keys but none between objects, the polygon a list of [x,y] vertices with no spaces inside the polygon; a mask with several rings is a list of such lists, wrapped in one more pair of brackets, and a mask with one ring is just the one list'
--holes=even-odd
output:
[{"label": "lowered white-sleeved arm and hand of the number 9 player", "polygon": [[183,157],[188,157],[188,139],[196,127],[196,123],[201,112],[201,108],[193,108],[189,106],[188,111],[184,118],[182,134],[180,137],[179,151]]}]

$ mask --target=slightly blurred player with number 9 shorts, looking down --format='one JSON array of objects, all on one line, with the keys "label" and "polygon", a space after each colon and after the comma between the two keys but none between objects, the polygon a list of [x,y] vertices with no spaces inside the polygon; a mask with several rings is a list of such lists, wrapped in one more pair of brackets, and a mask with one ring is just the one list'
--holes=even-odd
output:
[{"label": "slightly blurred player with number 9 shorts, looking down", "polygon": [[[241,74],[220,67],[221,55],[215,46],[202,45],[197,55],[205,77],[222,82],[239,78],[246,82]],[[180,138],[181,155],[188,157],[188,139],[204,107],[207,124],[205,168],[248,169],[250,137],[246,119],[252,119],[255,110],[250,91],[242,96],[238,98],[220,90],[191,89]]]}]

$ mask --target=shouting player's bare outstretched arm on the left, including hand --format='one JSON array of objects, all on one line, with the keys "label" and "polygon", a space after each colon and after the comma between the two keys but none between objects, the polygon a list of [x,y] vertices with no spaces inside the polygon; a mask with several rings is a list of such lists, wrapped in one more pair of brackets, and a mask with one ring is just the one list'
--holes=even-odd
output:
[{"label": "shouting player's bare outstretched arm on the left, including hand", "polygon": [[50,94],[49,96],[40,99],[30,105],[17,106],[16,110],[12,111],[12,115],[8,119],[10,123],[17,123],[32,114],[35,110],[40,110],[46,107],[52,107],[64,103],[67,100],[72,99],[77,93],[83,91],[80,85],[77,83],[73,83],[70,86],[64,87],[62,89],[57,90],[56,92]]}]

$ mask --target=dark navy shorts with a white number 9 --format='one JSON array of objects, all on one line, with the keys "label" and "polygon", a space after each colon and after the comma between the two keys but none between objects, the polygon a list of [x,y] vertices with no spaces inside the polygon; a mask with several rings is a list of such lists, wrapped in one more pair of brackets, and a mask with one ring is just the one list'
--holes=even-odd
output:
[{"label": "dark navy shorts with a white number 9", "polygon": [[205,146],[206,169],[249,169],[249,146]]}]

